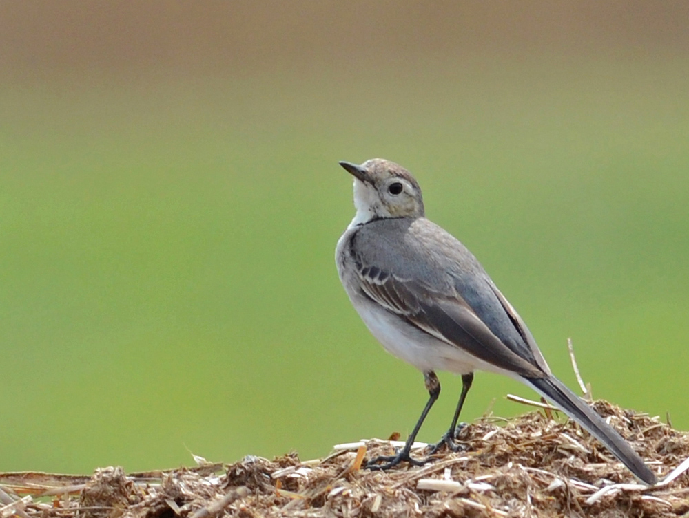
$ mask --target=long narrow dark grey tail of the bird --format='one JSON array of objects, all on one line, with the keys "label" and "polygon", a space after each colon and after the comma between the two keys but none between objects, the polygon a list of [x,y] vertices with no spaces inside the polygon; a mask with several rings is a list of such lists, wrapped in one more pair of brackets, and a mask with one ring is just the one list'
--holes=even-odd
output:
[{"label": "long narrow dark grey tail of the bird", "polygon": [[655,484],[657,479],[650,468],[644,464],[641,457],[632,449],[626,440],[622,438],[608,423],[599,416],[595,410],[570,391],[564,383],[550,376],[548,378],[522,378],[533,387],[541,396],[551,400],[567,416],[578,422],[597,440],[602,442],[610,453],[613,453],[619,461],[629,468],[639,479],[646,484]]}]

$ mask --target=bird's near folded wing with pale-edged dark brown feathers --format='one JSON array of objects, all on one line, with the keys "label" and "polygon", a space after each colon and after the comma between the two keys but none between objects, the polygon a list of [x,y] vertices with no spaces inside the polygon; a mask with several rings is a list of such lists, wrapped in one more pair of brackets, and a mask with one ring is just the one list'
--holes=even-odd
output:
[{"label": "bird's near folded wing with pale-edged dark brown feathers", "polygon": [[362,292],[411,325],[500,369],[531,378],[546,374],[507,347],[457,292],[432,290],[368,264],[360,256],[355,262]]}]

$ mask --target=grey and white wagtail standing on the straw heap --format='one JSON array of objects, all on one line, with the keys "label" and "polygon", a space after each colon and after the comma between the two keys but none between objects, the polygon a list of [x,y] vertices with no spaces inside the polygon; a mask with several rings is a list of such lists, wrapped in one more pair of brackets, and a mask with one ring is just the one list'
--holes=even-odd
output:
[{"label": "grey and white wagtail standing on the straw heap", "polygon": [[522,318],[460,241],[424,217],[421,189],[398,164],[375,158],[340,162],[354,177],[356,215],[338,241],[335,260],[351,303],[388,352],[424,374],[430,398],[398,455],[369,460],[388,469],[406,461],[440,394],[435,369],[462,375],[462,393],[442,444],[457,451],[455,427],[473,371],[515,378],[578,422],[634,475],[654,473],[591,407],[551,374]]}]

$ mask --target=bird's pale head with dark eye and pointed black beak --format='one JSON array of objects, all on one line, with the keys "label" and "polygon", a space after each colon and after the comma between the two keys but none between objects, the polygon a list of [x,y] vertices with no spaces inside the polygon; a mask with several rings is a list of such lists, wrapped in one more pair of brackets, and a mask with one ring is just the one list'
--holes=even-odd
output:
[{"label": "bird's pale head with dark eye and pointed black beak", "polygon": [[353,224],[424,215],[421,188],[404,167],[382,158],[371,158],[360,166],[350,162],[340,165],[354,177]]}]

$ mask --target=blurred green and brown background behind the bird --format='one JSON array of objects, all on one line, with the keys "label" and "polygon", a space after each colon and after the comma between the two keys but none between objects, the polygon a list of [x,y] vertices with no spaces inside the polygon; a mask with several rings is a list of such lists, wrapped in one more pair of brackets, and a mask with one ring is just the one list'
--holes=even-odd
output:
[{"label": "blurred green and brown background behind the bird", "polygon": [[594,396],[689,427],[688,6],[0,3],[0,471],[406,435],[423,378],[333,262],[337,161],[376,156],[568,385],[571,336]]}]

